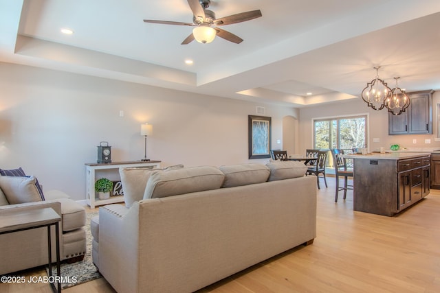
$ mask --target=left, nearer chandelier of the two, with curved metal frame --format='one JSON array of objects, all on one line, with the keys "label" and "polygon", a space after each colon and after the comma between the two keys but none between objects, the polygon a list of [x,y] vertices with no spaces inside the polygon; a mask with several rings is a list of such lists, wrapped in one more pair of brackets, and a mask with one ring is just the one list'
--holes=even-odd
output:
[{"label": "left, nearer chandelier of the two, with curved metal frame", "polygon": [[380,66],[374,67],[374,69],[376,69],[376,78],[366,84],[362,90],[362,99],[374,110],[382,110],[386,106],[388,97],[391,96],[391,89],[386,82],[379,78]]}]

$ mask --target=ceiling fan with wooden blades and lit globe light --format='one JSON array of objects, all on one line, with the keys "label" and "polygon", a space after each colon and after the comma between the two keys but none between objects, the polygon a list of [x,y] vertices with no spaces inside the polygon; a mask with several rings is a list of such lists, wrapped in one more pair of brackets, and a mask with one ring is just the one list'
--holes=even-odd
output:
[{"label": "ceiling fan with wooden blades and lit globe light", "polygon": [[229,40],[232,43],[239,44],[243,42],[243,39],[230,32],[222,30],[219,26],[232,25],[234,23],[241,23],[243,21],[250,21],[261,16],[260,10],[252,10],[248,12],[241,12],[230,16],[215,18],[215,13],[212,10],[208,10],[211,1],[210,0],[188,0],[188,4],[192,10],[193,23],[181,23],[179,21],[155,21],[152,19],[144,19],[145,23],[159,23],[162,25],[188,25],[195,27],[181,45],[187,45],[192,40],[197,40],[199,43],[211,43],[215,36]]}]

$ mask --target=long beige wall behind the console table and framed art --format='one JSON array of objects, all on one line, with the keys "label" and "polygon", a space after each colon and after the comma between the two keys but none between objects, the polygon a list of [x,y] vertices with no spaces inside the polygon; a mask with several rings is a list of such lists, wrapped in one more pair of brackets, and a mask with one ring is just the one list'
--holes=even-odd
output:
[{"label": "long beige wall behind the console table and framed art", "polygon": [[[0,168],[23,167],[44,189],[85,199],[85,163],[109,141],[113,161],[140,160],[140,124],[153,124],[148,158],[163,165],[225,165],[248,160],[248,115],[272,117],[272,148],[283,148],[283,117],[293,108],[0,63]],[[120,111],[124,117],[120,117]],[[281,143],[276,141],[280,139]]]}]

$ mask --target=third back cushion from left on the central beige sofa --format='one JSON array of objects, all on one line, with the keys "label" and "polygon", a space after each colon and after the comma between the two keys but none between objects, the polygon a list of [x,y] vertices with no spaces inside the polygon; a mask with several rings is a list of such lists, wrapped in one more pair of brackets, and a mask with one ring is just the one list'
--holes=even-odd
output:
[{"label": "third back cushion from left on the central beige sofa", "polygon": [[225,174],[225,180],[221,187],[234,187],[263,183],[270,175],[270,169],[262,164],[242,164],[219,167]]}]

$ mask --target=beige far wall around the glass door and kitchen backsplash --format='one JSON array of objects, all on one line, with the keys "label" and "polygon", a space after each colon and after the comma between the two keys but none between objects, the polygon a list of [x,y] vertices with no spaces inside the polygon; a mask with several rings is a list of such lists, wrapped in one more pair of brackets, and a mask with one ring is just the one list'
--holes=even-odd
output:
[{"label": "beige far wall around the glass door and kitchen backsplash", "polygon": [[[377,150],[381,146],[389,149],[393,143],[399,143],[401,148],[439,148],[440,150],[440,141],[434,141],[434,139],[437,138],[437,103],[440,103],[440,91],[436,91],[432,97],[433,134],[417,135],[388,135],[388,112],[385,109],[371,109],[366,106],[361,98],[354,99],[350,102],[338,102],[301,108],[299,123],[301,139],[299,140],[299,150],[303,153],[307,148],[313,146],[313,119],[365,114],[369,116],[368,143],[370,150]],[[380,142],[373,143],[373,138],[380,139]],[[416,139],[417,143],[412,143],[413,139]],[[425,143],[425,139],[430,139],[431,143]]]}]

